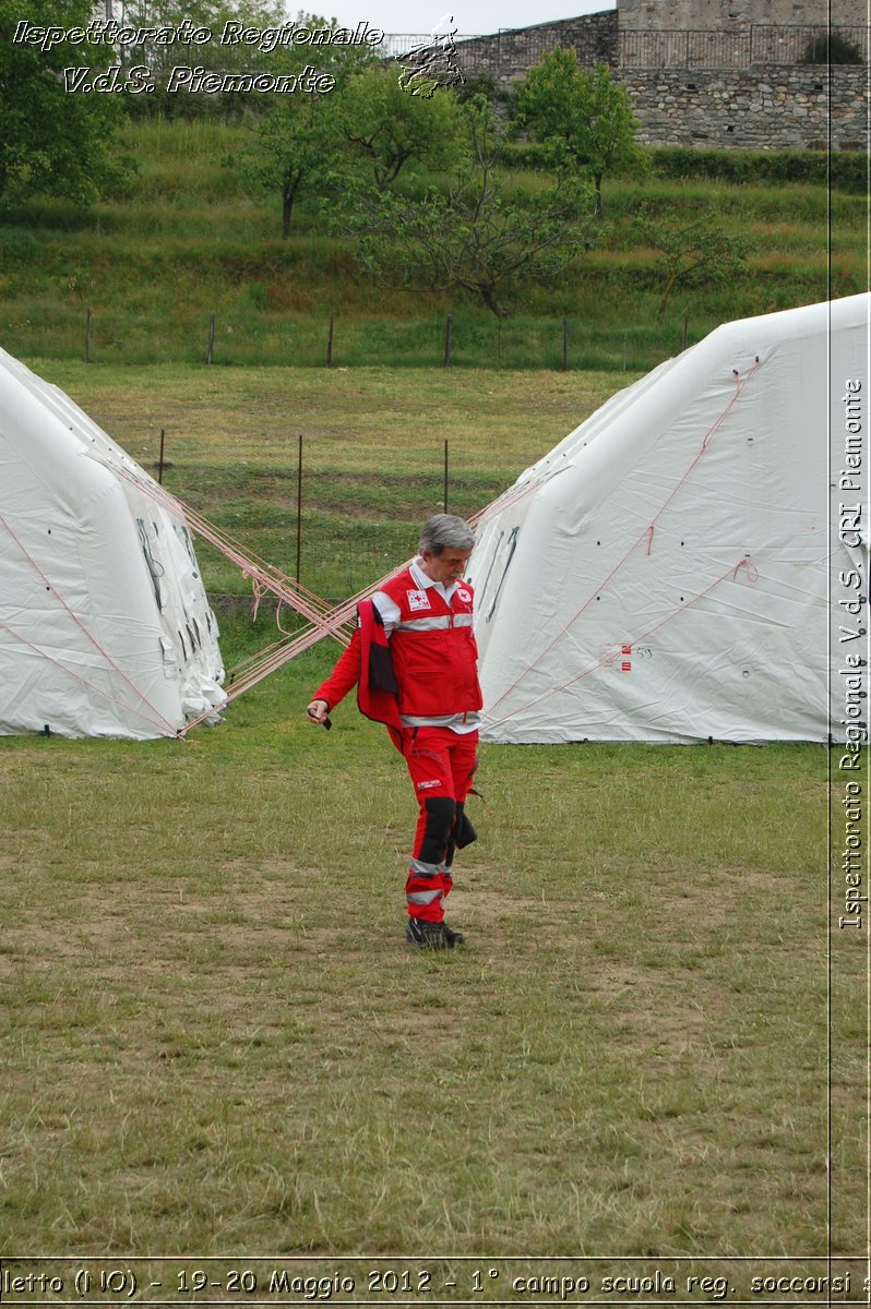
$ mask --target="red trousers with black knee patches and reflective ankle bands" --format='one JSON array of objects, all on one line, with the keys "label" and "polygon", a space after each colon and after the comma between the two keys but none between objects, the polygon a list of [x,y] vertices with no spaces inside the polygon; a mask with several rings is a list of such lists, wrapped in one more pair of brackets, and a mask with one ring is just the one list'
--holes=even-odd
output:
[{"label": "red trousers with black knee patches and reflective ankle bands", "polygon": [[405,893],[409,916],[440,923],[453,886],[454,847],[468,835],[465,800],[477,766],[478,733],[451,728],[402,728],[390,736],[402,751],[420,806]]}]

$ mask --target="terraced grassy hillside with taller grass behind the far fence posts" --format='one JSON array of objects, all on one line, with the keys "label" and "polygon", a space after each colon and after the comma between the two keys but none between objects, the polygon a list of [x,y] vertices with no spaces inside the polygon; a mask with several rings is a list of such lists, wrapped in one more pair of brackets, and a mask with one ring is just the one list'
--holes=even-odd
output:
[{"label": "terraced grassy hillside with taller grass behind the far fence posts", "polygon": [[[434,367],[453,315],[456,367],[559,368],[568,319],[571,368],[647,369],[723,318],[748,317],[863,289],[864,202],[812,185],[612,179],[606,226],[559,285],[510,292],[502,327],[460,295],[388,291],[356,267],[352,245],[326,234],[330,202],[303,199],[289,240],[279,196],[245,181],[250,130],[176,120],[128,123],[119,151],[139,164],[123,192],[81,213],[62,199],[14,202],[0,215],[0,340],[17,353],[81,357],[90,309],[92,357],[195,363],[217,315],[221,364],[316,367],[335,318],[334,361]],[[403,179],[413,194],[430,181]],[[541,173],[520,173],[527,191]],[[638,247],[640,204],[693,215],[715,207],[751,234],[743,276],[726,291],[678,288],[658,314],[664,276]],[[830,259],[829,255],[833,255]],[[686,319],[686,323],[685,323]]]}]

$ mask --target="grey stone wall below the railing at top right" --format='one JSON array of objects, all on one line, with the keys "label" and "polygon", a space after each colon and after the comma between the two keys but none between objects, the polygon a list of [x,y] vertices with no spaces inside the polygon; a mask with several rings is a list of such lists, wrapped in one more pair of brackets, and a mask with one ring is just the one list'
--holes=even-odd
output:
[{"label": "grey stone wall below the railing at top right", "polygon": [[618,69],[646,145],[740,149],[867,148],[867,69]]}]

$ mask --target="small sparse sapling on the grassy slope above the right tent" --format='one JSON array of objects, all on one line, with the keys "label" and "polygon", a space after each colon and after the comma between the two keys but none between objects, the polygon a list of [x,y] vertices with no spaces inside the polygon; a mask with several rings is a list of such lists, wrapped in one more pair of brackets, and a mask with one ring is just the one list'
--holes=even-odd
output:
[{"label": "small sparse sapling on the grassy slope above the right tent", "polygon": [[643,209],[634,223],[635,234],[659,254],[664,285],[660,318],[678,281],[718,285],[744,270],[752,242],[727,232],[711,209],[686,217],[667,208],[659,215]]}]

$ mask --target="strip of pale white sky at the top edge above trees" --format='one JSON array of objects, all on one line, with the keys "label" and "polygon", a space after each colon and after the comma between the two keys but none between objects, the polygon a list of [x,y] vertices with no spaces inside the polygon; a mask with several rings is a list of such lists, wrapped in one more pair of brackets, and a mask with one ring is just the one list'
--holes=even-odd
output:
[{"label": "strip of pale white sky at the top edge above trees", "polygon": [[452,13],[457,41],[464,35],[483,35],[500,27],[530,27],[614,7],[616,0],[538,0],[537,4],[533,0],[309,0],[305,5],[309,12],[335,17],[342,27],[356,27],[365,20],[369,27],[385,33],[420,35],[431,33],[445,13]]}]

